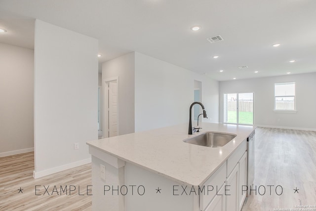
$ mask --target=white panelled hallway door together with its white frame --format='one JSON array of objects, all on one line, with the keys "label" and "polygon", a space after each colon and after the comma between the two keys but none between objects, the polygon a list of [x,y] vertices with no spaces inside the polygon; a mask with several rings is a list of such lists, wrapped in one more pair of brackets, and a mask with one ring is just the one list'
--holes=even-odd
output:
[{"label": "white panelled hallway door together with its white frame", "polygon": [[104,81],[104,121],[103,136],[113,137],[119,134],[118,127],[118,78]]}]

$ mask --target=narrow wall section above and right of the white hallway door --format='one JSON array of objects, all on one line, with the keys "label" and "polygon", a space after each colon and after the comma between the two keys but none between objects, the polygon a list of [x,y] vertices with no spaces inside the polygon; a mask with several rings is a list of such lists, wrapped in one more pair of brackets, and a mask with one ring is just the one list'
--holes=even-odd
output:
[{"label": "narrow wall section above and right of the white hallway door", "polygon": [[132,133],[134,127],[134,52],[102,64],[102,86],[108,79],[118,77],[118,127],[119,135]]}]

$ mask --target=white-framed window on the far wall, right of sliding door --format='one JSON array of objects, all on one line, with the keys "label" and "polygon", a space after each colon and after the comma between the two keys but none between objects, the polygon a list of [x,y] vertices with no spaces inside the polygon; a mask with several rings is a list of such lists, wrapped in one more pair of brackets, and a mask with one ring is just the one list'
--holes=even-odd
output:
[{"label": "white-framed window on the far wall, right of sliding door", "polygon": [[275,84],[275,110],[295,111],[295,82]]}]

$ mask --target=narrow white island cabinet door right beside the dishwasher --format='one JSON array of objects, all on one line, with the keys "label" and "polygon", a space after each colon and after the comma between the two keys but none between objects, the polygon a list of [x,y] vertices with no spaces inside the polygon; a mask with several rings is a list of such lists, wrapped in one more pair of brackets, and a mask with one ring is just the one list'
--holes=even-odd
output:
[{"label": "narrow white island cabinet door right beside the dishwasher", "polygon": [[247,152],[243,154],[243,156],[240,158],[238,163],[239,163],[238,211],[240,211],[247,195],[247,191],[243,191],[246,189],[246,185],[247,185]]}]

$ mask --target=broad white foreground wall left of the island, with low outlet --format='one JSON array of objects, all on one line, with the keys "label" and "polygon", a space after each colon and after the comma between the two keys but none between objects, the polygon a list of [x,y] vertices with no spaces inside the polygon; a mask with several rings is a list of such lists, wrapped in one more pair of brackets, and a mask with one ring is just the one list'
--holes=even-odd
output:
[{"label": "broad white foreground wall left of the island, with low outlet", "polygon": [[97,54],[97,40],[36,20],[35,177],[91,161],[85,142],[98,138]]}]

